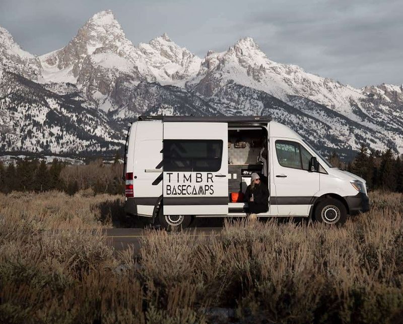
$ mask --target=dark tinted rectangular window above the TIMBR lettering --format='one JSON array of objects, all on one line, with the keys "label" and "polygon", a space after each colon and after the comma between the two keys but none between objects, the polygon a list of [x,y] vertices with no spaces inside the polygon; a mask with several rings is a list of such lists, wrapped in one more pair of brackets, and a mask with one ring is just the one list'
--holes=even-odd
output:
[{"label": "dark tinted rectangular window above the TIMBR lettering", "polygon": [[163,141],[164,171],[216,172],[221,169],[222,140]]}]

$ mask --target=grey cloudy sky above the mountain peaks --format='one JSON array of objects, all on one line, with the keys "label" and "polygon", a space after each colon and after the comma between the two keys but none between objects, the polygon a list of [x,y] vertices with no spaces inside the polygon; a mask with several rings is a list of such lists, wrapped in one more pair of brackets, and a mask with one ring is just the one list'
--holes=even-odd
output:
[{"label": "grey cloudy sky above the mountain peaks", "polygon": [[166,32],[204,57],[251,36],[271,60],[345,84],[403,83],[401,0],[0,0],[0,25],[43,54],[105,9],[135,44]]}]

